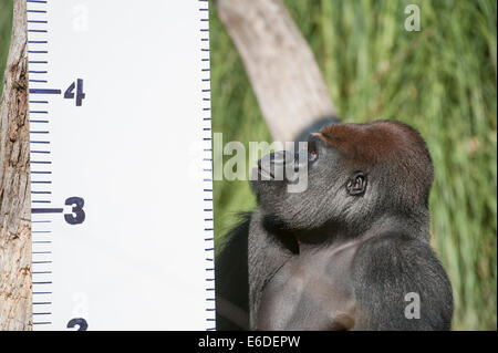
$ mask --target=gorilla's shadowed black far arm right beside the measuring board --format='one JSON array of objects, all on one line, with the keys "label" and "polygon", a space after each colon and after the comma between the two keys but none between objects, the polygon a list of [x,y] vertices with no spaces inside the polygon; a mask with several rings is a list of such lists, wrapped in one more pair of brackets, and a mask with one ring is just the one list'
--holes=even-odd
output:
[{"label": "gorilla's shadowed black far arm right beside the measuring board", "polygon": [[249,329],[248,237],[250,214],[224,236],[216,256],[217,330]]}]

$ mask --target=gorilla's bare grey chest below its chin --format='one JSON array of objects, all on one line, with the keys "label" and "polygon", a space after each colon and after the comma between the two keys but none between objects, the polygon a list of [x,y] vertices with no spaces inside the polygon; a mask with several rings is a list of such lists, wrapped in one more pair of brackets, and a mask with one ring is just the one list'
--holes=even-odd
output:
[{"label": "gorilla's bare grey chest below its chin", "polygon": [[[259,330],[332,330],[354,313],[351,284],[353,243],[301,248],[262,288]],[[344,322],[345,320],[345,322]]]}]

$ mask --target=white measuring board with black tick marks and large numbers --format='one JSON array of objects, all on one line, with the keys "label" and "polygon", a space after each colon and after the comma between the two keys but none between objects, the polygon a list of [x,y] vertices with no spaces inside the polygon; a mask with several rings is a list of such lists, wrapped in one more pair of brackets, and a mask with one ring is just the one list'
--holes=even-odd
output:
[{"label": "white measuring board with black tick marks and large numbers", "polygon": [[214,330],[207,0],[27,0],[34,330]]}]

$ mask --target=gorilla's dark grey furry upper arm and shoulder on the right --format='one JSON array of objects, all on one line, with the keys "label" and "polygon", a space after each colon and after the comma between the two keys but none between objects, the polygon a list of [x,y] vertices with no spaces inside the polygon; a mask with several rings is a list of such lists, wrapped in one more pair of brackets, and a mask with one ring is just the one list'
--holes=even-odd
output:
[{"label": "gorilla's dark grey furry upper arm and shoulder on the right", "polygon": [[[452,287],[427,242],[400,233],[371,238],[359,247],[352,276],[355,330],[450,329]],[[405,316],[411,292],[419,295],[419,319]]]}]

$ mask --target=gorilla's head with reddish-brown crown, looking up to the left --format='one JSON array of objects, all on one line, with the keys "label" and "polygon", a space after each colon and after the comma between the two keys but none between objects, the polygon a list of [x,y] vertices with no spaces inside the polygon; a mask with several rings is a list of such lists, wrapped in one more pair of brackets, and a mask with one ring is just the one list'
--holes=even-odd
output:
[{"label": "gorilla's head with reddish-brown crown, looking up to the left", "polygon": [[[290,170],[289,164],[308,170],[304,191],[290,193],[291,181],[274,177],[284,166]],[[310,135],[308,150],[264,156],[258,173],[258,204],[289,230],[427,215],[434,177],[424,141],[396,121],[328,126]]]}]

